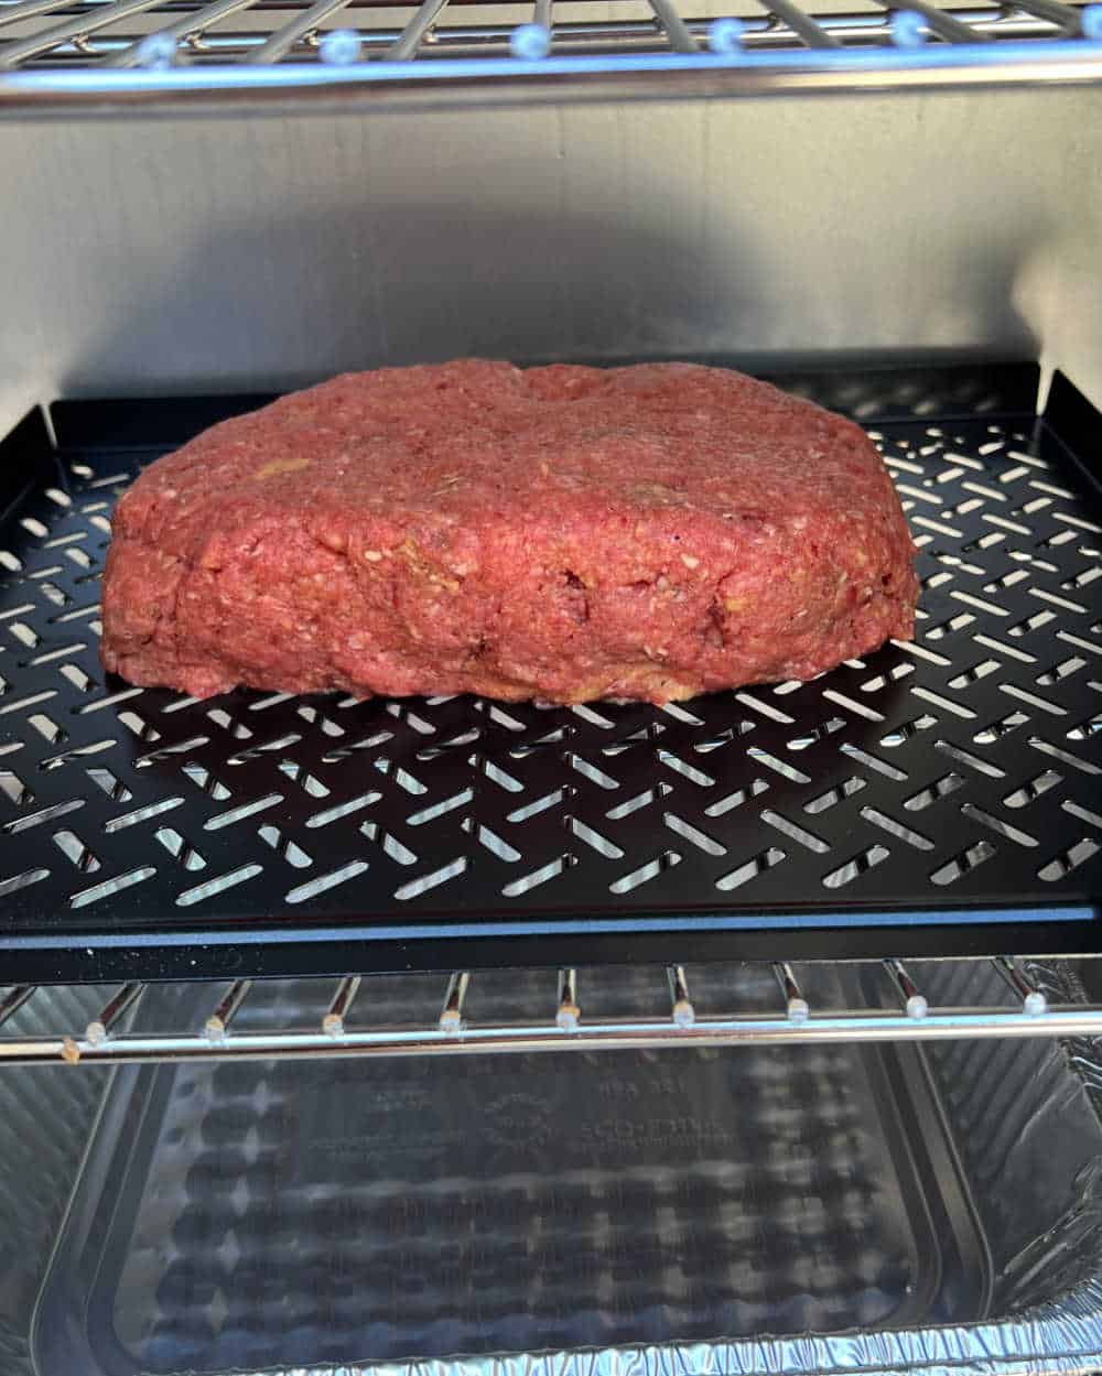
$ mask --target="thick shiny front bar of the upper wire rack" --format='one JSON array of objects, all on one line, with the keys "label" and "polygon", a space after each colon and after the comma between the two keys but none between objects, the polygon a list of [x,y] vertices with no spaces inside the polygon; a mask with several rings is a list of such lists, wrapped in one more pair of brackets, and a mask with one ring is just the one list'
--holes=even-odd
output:
[{"label": "thick shiny front bar of the upper wire rack", "polygon": [[462,102],[513,105],[534,99],[670,99],[780,94],[860,94],[969,87],[1102,84],[1102,41],[1006,40],[999,44],[930,44],[916,52],[814,50],[754,52],[736,58],[662,54],[614,58],[506,58],[447,62],[369,62],[349,66],[290,63],[198,66],[165,72],[15,70],[0,73],[0,116],[83,107],[239,102],[286,113],[294,96],[347,107],[358,99],[395,106],[446,107]]}]

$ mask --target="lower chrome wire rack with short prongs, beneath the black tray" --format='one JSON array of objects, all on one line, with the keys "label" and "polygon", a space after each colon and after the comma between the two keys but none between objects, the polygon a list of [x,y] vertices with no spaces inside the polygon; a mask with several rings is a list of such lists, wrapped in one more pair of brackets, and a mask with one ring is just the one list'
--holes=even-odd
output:
[{"label": "lower chrome wire rack with short prongs, beneath the black tray", "polygon": [[[1018,960],[999,958],[991,963],[1021,1000],[1017,1007],[933,1007],[903,965],[889,960],[883,963],[883,969],[889,977],[889,988],[903,999],[901,1009],[868,1006],[816,1011],[809,1007],[791,967],[776,963],[773,974],[780,992],[776,1010],[700,1017],[689,998],[689,978],[684,966],[670,966],[670,1004],[665,1014],[656,1011],[653,1017],[596,1018],[583,1022],[576,971],[564,969],[557,973],[557,998],[545,1015],[516,1024],[479,1025],[471,1022],[464,1011],[472,974],[457,971],[447,981],[443,1009],[435,1028],[349,1025],[360,977],[345,976],[336,984],[329,1011],[314,1028],[253,1031],[246,1026],[234,1031],[234,1020],[248,1006],[253,988],[253,981],[238,980],[224,991],[216,1011],[198,1031],[116,1032],[127,1011],[136,1007],[147,988],[132,982],[116,991],[100,1015],[78,1036],[0,1036],[0,1066],[1102,1035],[1102,1004],[1050,1006]],[[549,980],[552,978],[554,974],[549,973]],[[0,1024],[11,1024],[34,992],[33,987],[23,987],[0,999]]]}]

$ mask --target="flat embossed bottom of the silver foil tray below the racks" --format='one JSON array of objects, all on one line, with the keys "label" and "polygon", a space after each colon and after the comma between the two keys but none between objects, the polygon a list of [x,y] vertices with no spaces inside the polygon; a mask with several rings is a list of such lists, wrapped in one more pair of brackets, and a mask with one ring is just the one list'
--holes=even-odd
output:
[{"label": "flat embossed bottom of the silver foil tray below the racks", "polygon": [[[249,1025],[323,1006],[266,995]],[[32,1346],[87,1376],[411,1362],[905,1328],[989,1284],[914,1047],[127,1068]]]}]

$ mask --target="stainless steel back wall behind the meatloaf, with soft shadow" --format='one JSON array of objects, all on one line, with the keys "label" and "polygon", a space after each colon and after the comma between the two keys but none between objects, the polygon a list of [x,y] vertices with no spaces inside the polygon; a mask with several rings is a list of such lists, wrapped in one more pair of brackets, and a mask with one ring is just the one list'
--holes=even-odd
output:
[{"label": "stainless steel back wall behind the meatloaf, with soft shadow", "polygon": [[1102,400],[1102,89],[0,122],[0,429],[347,367],[1037,356]]}]

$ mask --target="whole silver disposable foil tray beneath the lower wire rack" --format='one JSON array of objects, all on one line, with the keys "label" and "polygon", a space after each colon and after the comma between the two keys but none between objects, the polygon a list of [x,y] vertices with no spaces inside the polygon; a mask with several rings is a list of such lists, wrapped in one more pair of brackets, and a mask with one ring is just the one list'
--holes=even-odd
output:
[{"label": "whole silver disposable foil tray beneath the lower wire rack", "polygon": [[[940,1004],[1006,995],[986,962],[915,970]],[[1070,965],[1033,971],[1083,999]],[[663,976],[581,973],[626,1015]],[[879,988],[854,965],[808,974],[816,1006]],[[509,1020],[543,982],[486,971],[476,1015]],[[439,1006],[439,976],[370,984],[358,1026]],[[23,1035],[80,1015],[83,991],[54,992],[14,1014]],[[135,1031],[193,1024],[215,993],[154,987]],[[327,996],[259,981],[241,1025],[308,1026]],[[717,1017],[776,991],[768,967],[710,963],[695,996]],[[4,1083],[12,1376],[1084,1376],[1102,1353],[1094,1039],[272,1054]]]}]

